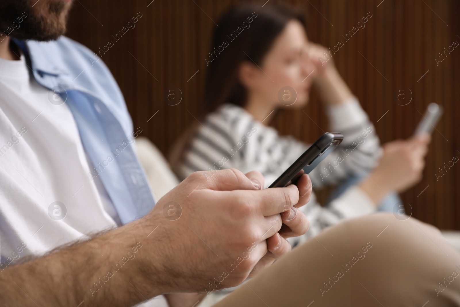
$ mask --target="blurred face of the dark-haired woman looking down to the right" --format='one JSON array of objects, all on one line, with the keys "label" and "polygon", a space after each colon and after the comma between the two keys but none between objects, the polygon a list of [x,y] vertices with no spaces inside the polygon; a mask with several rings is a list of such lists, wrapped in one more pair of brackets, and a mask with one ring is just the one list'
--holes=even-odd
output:
[{"label": "blurred face of the dark-haired woman looking down to the right", "polygon": [[248,91],[277,107],[304,106],[309,99],[314,70],[307,48],[304,26],[298,21],[288,22],[265,55],[260,69],[254,68]]}]

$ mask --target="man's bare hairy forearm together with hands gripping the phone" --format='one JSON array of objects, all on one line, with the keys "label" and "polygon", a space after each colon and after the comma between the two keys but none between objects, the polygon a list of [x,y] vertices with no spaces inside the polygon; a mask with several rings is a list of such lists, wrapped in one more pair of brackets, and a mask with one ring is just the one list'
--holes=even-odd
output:
[{"label": "man's bare hairy forearm together with hands gripping the phone", "polygon": [[209,174],[190,175],[139,220],[8,267],[0,301],[133,306],[165,293],[210,292],[240,284],[288,252],[285,237],[307,231],[300,211],[280,213],[309,200],[308,176],[298,186],[260,190],[257,172],[248,174],[252,180],[231,169]]}]

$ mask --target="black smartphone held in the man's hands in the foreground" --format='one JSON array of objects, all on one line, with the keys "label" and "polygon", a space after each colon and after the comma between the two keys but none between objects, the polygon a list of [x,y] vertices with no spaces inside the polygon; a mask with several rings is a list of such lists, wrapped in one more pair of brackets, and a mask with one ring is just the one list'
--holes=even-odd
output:
[{"label": "black smartphone held in the man's hands in the foreground", "polygon": [[295,183],[303,174],[310,173],[344,139],[342,133],[324,133],[269,188],[280,188]]}]

